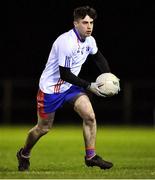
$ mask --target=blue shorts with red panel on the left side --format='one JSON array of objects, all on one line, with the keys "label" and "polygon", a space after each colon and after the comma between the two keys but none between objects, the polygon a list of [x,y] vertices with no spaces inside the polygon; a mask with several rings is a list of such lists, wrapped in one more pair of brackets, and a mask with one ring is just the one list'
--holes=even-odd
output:
[{"label": "blue shorts with red panel on the left side", "polygon": [[83,88],[78,86],[71,86],[67,91],[56,94],[46,94],[41,90],[37,95],[37,109],[41,116],[51,112],[55,112],[62,107],[65,102],[73,100],[78,94],[85,93]]}]

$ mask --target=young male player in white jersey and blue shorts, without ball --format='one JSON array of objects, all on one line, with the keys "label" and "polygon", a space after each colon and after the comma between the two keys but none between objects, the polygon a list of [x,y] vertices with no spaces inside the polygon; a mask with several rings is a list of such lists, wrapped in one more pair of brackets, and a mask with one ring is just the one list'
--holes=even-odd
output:
[{"label": "young male player in white jersey and blue shorts, without ball", "polygon": [[27,136],[25,145],[17,152],[18,170],[29,170],[30,152],[41,136],[52,127],[54,115],[65,102],[73,105],[75,112],[83,119],[85,142],[85,164],[109,169],[111,162],[96,154],[96,119],[91,102],[85,92],[89,90],[97,96],[103,96],[98,88],[100,84],[87,82],[78,77],[88,55],[94,57],[100,73],[110,72],[109,65],[98,50],[91,36],[97,14],[89,6],[74,10],[74,28],[60,35],[53,43],[45,69],[42,72],[37,95],[38,122]]}]

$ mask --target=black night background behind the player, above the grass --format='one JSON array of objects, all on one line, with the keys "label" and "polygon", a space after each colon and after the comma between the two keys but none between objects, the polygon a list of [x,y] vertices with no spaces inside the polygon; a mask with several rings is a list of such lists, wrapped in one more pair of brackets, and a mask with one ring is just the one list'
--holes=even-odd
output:
[{"label": "black night background behind the player, above the grass", "polygon": [[[97,10],[93,36],[112,72],[121,79],[118,96],[103,99],[91,95],[98,121],[155,124],[155,3],[140,0],[8,1],[7,28],[2,34],[1,122],[36,121],[38,81],[52,43],[73,27],[73,10],[82,5]],[[80,76],[92,81],[97,75],[88,59]],[[78,118],[70,105],[56,115],[57,122],[79,122],[73,120]]]}]

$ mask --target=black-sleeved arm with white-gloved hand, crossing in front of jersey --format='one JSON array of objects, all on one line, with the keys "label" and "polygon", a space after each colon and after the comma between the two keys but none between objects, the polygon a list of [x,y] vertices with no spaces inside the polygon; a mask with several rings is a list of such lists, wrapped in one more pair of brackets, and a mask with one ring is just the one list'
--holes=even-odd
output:
[{"label": "black-sleeved arm with white-gloved hand, crossing in front of jersey", "polygon": [[96,83],[96,82],[90,83],[84,79],[81,79],[78,76],[75,76],[71,72],[70,68],[67,68],[67,67],[59,66],[59,70],[60,70],[60,78],[62,80],[67,81],[67,82],[74,84],[76,86],[80,86],[80,87],[83,87],[85,89],[88,89],[89,91],[93,92],[97,96],[103,96],[100,93],[100,90],[98,88],[100,86],[99,83]]}]

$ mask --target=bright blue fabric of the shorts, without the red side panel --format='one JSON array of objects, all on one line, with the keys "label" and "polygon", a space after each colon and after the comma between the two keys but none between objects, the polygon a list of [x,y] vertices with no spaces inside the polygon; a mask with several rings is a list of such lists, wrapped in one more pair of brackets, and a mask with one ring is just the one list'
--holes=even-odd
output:
[{"label": "bright blue fabric of the shorts, without the red side panel", "polygon": [[58,108],[62,107],[67,101],[73,100],[79,93],[85,92],[85,90],[78,86],[71,86],[70,89],[63,93],[46,94],[44,93],[44,112],[55,112]]}]

